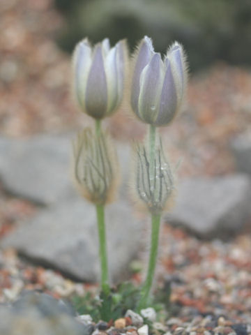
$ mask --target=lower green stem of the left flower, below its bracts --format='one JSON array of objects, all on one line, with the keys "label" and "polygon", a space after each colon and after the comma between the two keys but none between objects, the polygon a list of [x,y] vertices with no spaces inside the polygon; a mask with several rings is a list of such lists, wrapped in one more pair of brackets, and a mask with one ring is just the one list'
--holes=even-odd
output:
[{"label": "lower green stem of the left flower, below its bracts", "polygon": [[105,295],[109,295],[108,267],[107,267],[107,248],[105,239],[105,211],[104,205],[96,204],[98,219],[98,237],[99,237],[99,256],[101,265],[101,288]]}]

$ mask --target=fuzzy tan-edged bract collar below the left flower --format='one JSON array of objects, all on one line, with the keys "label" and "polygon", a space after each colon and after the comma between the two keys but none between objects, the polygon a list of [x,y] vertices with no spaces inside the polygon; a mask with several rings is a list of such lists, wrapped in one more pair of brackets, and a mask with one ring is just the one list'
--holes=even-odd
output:
[{"label": "fuzzy tan-edged bract collar below the left flower", "polygon": [[80,193],[94,204],[114,198],[119,172],[116,153],[105,133],[86,128],[73,143],[75,181]]}]

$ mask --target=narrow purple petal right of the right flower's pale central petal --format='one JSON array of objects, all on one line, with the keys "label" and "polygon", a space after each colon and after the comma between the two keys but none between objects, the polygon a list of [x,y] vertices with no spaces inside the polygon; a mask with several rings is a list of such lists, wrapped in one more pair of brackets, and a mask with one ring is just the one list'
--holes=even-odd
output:
[{"label": "narrow purple petal right of the right flower's pale central petal", "polygon": [[177,112],[177,94],[172,74],[171,64],[168,59],[165,61],[166,73],[160,96],[160,106],[158,117],[155,120],[155,126],[165,126],[169,124]]}]

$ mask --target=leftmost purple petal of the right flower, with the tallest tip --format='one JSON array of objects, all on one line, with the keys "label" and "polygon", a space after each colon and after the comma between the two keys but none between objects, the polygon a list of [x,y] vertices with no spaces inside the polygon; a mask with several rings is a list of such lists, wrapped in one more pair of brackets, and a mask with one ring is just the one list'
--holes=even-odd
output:
[{"label": "leftmost purple petal of the right flower, with the tallest tip", "polygon": [[139,44],[137,54],[135,55],[135,68],[132,76],[132,86],[131,86],[131,105],[132,110],[138,113],[138,100],[139,100],[139,78],[142,74],[144,67],[149,64],[151,57],[153,56],[153,45],[151,39],[145,37]]}]

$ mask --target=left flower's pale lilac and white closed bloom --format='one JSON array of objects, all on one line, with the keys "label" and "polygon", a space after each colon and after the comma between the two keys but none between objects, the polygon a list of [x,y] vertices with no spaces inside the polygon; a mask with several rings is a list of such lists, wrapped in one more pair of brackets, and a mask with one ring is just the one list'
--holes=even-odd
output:
[{"label": "left flower's pale lilac and white closed bloom", "polygon": [[123,98],[127,47],[124,40],[110,48],[109,39],[91,47],[86,39],[73,54],[73,93],[81,109],[94,119],[108,117]]}]

